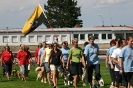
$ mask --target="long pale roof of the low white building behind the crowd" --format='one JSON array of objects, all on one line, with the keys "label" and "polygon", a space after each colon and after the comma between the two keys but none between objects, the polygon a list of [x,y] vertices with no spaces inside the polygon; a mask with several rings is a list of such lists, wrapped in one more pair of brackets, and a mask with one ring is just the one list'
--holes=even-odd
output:
[{"label": "long pale roof of the low white building behind the crowd", "polygon": [[[9,28],[8,32],[21,32],[21,28]],[[133,31],[132,26],[95,26],[89,28],[37,28],[34,32],[74,32],[74,31]],[[0,29],[0,33],[6,33],[7,29]]]}]

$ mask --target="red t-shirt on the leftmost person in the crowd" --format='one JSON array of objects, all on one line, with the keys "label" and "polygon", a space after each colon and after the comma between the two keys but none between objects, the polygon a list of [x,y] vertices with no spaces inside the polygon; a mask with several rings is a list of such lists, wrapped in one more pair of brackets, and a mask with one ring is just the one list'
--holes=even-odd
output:
[{"label": "red t-shirt on the leftmost person in the crowd", "polygon": [[1,55],[3,61],[8,61],[9,64],[12,64],[13,54],[11,51],[3,51]]}]

